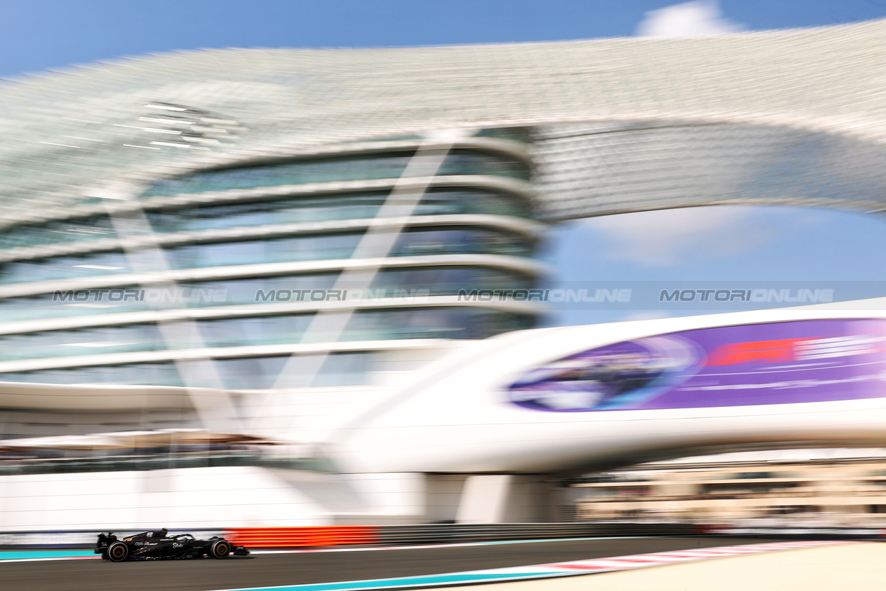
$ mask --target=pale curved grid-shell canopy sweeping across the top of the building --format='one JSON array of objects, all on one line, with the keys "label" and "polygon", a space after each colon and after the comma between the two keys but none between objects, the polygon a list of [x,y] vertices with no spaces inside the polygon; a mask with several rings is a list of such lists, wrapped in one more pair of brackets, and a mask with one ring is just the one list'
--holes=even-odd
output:
[{"label": "pale curved grid-shell canopy sweeping across the top of the building", "polygon": [[[719,143],[727,161],[753,159],[754,153],[765,161],[773,146],[819,135],[824,147],[812,141],[806,152],[819,150],[821,159],[828,154],[835,159],[810,182],[823,179],[832,190],[778,195],[818,203],[840,198],[835,193],[859,176],[874,189],[884,184],[869,169],[886,139],[886,60],[879,49],[884,42],[886,21],[879,20],[688,39],[186,51],[74,66],[0,89],[0,207],[4,220],[12,221],[25,214],[23,203],[70,206],[109,186],[120,190],[226,161],[315,152],[433,128],[587,121],[691,123],[693,132],[658,143],[661,153],[682,145],[688,151],[684,160],[697,149],[689,141],[696,132],[710,136],[701,144]],[[176,105],[189,108],[195,121],[176,118]],[[698,127],[711,123],[723,129]],[[739,127],[727,129],[730,125]],[[657,150],[642,144],[644,151]],[[606,148],[605,141],[594,139],[582,150],[593,156]],[[559,149],[539,153],[563,159]],[[856,163],[843,173],[851,178],[831,180],[828,175],[846,161]],[[559,191],[560,180],[544,182],[540,216],[556,220],[674,205],[673,198],[662,200],[655,167],[638,172],[625,165],[610,153],[600,167],[611,180],[639,174],[648,181],[631,191],[623,183],[601,190],[595,199],[605,206],[580,204],[587,196]],[[691,173],[684,169],[685,178],[673,177],[672,192],[691,203],[741,199],[735,194],[740,186],[720,191],[722,183],[694,183]],[[869,210],[879,203],[866,199],[851,208]]]}]

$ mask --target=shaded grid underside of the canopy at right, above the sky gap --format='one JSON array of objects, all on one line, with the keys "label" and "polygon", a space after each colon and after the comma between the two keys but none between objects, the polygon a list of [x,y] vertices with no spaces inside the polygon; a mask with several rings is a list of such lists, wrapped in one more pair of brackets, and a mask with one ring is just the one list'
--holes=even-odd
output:
[{"label": "shaded grid underside of the canopy at right, above the sky gap", "polygon": [[536,128],[540,214],[563,220],[685,206],[803,205],[881,212],[883,144],[721,123]]}]

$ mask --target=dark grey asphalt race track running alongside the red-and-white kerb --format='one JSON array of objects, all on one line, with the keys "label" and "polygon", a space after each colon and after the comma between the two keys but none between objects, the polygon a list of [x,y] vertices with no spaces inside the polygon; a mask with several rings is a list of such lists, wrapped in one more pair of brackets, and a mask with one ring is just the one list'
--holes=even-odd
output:
[{"label": "dark grey asphalt race track running alongside the red-and-white kerb", "polygon": [[666,550],[752,544],[746,538],[631,538],[548,540],[455,548],[253,554],[228,560],[126,562],[62,560],[0,563],[0,587],[9,591],[209,591],[382,579],[472,571]]}]

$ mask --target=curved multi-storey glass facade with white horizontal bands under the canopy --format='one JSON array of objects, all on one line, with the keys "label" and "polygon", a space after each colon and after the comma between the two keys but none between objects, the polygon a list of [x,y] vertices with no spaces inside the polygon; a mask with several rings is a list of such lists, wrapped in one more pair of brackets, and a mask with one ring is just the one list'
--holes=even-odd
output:
[{"label": "curved multi-storey glass facade with white horizontal bands under the canopy", "polygon": [[[117,242],[117,238],[126,237],[115,234],[109,215],[126,218],[128,214],[113,214],[113,204],[110,214],[102,210],[9,227],[0,237],[0,249],[69,245],[70,254],[41,258],[19,251],[14,255],[18,259],[0,264],[0,289],[54,282],[40,288],[45,292],[32,296],[0,297],[0,316],[4,321],[44,323],[30,330],[22,325],[19,332],[0,336],[0,362],[7,368],[0,369],[0,381],[217,387],[192,381],[186,384],[182,377],[183,366],[211,362],[223,387],[268,388],[276,383],[288,356],[261,356],[262,350],[254,347],[304,342],[312,319],[326,313],[330,301],[338,302],[337,314],[349,314],[348,321],[342,330],[328,334],[312,332],[310,342],[365,343],[367,349],[355,346],[352,353],[328,355],[313,385],[367,383],[379,355],[384,355],[385,347],[378,345],[379,341],[487,338],[532,327],[535,315],[530,312],[507,311],[483,302],[454,306],[451,300],[433,301],[461,290],[533,287],[534,271],[502,270],[513,267],[515,257],[528,263],[535,248],[533,230],[527,226],[532,219],[532,207],[527,200],[529,185],[525,183],[530,167],[525,159],[509,155],[514,150],[514,140],[519,141],[522,136],[510,131],[490,131],[486,136],[482,143],[475,143],[485,147],[456,147],[448,152],[436,178],[422,190],[420,201],[411,208],[412,217],[397,230],[399,236],[387,253],[390,262],[372,268],[369,284],[347,285],[339,281],[338,270],[282,270],[266,276],[268,268],[253,267],[352,259],[365,233],[361,225],[368,223],[341,224],[342,229],[336,229],[334,224],[323,229],[283,224],[371,220],[382,206],[397,205],[397,199],[411,203],[412,196],[400,197],[390,189],[332,193],[318,187],[316,191],[299,189],[286,194],[275,188],[379,179],[391,179],[392,185],[408,169],[414,149],[278,159],[160,179],[140,196],[144,218],[133,218],[129,223],[135,220],[136,225],[143,224],[139,235],[153,233],[161,242],[163,237],[170,237],[171,241],[145,250],[124,250]],[[496,137],[507,140],[501,142],[499,151],[488,147]],[[460,184],[462,175],[471,177],[465,186]],[[494,188],[483,188],[484,177],[489,179],[486,184]],[[518,183],[525,183],[525,189],[503,191],[499,187],[509,185],[494,181],[495,177],[509,178],[509,183],[517,183],[517,187]],[[262,191],[236,192],[263,187],[268,188],[268,195],[262,195]],[[392,211],[401,215],[396,213],[396,207]],[[450,217],[445,225],[423,223],[423,217],[430,215]],[[476,215],[494,215],[499,219],[478,225],[477,218],[471,217]],[[465,217],[462,220],[459,216]],[[521,226],[525,229],[519,229]],[[250,231],[231,231],[240,228]],[[266,235],[256,236],[255,229]],[[447,261],[451,256],[478,254],[492,258],[487,264],[458,265]],[[401,268],[397,261],[403,257],[423,257],[423,266]],[[432,257],[439,257],[439,262]],[[506,258],[496,264],[495,257]],[[332,263],[333,268],[337,266]],[[225,269],[232,267],[237,268]],[[344,267],[344,262],[338,266]],[[164,284],[154,277],[140,282],[144,274],[155,271],[214,268],[222,276],[230,277],[175,284]],[[525,268],[533,267],[527,264]],[[120,276],[121,281],[114,283],[114,276]],[[110,287],[84,288],[93,277]],[[72,280],[77,283],[70,283]],[[347,298],[328,297],[327,292],[337,290],[351,294]],[[355,296],[354,291],[361,295]],[[314,297],[316,293],[320,293],[319,299]],[[362,303],[364,299],[372,299],[373,303]],[[358,303],[348,306],[349,301]],[[236,317],[230,317],[233,313],[225,307],[237,307]],[[194,308],[216,308],[214,315],[218,317],[190,320],[188,330],[181,330],[183,327],[177,323],[183,321],[175,320],[175,314],[167,316],[170,320],[162,321],[163,324],[153,317],[149,321],[144,315],[126,318],[126,323],[116,321],[122,318],[120,313],[175,313],[176,309]],[[67,328],[65,320],[76,317],[88,320],[89,325]],[[46,328],[45,323],[50,327]],[[53,323],[58,326],[53,327]],[[156,359],[158,352],[195,348],[218,349],[219,354],[210,354],[212,359],[201,362],[145,360],[98,365],[95,362],[100,360],[96,359],[83,365],[89,357],[100,355],[128,354],[128,359],[153,355]],[[175,356],[172,352],[168,355]],[[59,366],[69,359],[72,365],[59,369],[14,369],[17,362],[36,359],[57,360]]]}]

